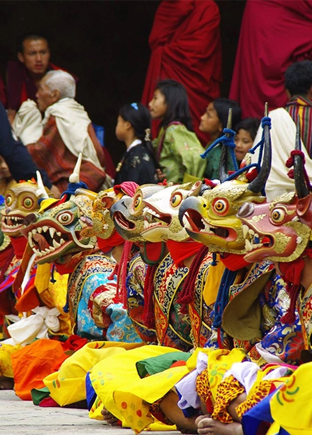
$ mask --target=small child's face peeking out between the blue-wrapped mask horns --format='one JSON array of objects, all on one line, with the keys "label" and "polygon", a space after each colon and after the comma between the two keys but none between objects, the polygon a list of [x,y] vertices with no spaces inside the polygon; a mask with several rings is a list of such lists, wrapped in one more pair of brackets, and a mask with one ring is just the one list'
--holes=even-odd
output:
[{"label": "small child's face peeking out between the blue-wrapped mask horns", "polygon": [[253,141],[255,140],[255,135],[257,134],[258,128],[260,126],[260,120],[258,117],[246,117],[235,127],[236,135],[235,141],[235,156],[237,163],[242,162],[246,152],[253,148]]}]

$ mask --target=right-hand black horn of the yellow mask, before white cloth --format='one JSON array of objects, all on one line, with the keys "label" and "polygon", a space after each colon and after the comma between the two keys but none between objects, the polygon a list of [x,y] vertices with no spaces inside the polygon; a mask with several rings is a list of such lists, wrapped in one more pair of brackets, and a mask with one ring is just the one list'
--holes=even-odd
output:
[{"label": "right-hand black horn of the yellow mask, before white cloth", "polygon": [[[268,116],[268,108],[267,103],[265,103],[265,117]],[[267,183],[267,178],[269,178],[269,171],[271,170],[272,164],[272,145],[271,145],[271,134],[269,132],[269,125],[265,125],[264,135],[264,151],[263,158],[261,162],[261,169],[258,173],[258,176],[251,181],[248,185],[248,190],[254,193],[261,192],[262,188],[265,187],[265,183]]]}]

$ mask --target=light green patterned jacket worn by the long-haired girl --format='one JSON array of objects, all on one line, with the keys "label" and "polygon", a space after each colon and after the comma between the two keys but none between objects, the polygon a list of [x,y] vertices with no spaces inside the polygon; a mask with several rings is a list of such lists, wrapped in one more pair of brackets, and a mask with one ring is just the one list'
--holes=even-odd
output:
[{"label": "light green patterned jacket worn by the long-haired girl", "polygon": [[[153,146],[157,152],[164,129],[159,131]],[[204,152],[198,137],[183,124],[172,124],[165,131],[165,139],[159,163],[168,183],[183,183],[184,173],[202,179],[205,160],[200,157]]]}]

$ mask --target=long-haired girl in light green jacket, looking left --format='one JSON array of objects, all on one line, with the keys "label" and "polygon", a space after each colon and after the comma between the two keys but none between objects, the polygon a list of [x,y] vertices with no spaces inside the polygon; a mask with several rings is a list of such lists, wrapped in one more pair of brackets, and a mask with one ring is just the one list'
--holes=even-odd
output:
[{"label": "long-haired girl in light green jacket, looking left", "polygon": [[162,80],[149,101],[154,120],[161,120],[158,137],[153,141],[156,157],[168,182],[183,183],[193,176],[202,178],[205,162],[202,145],[193,132],[188,97],[181,83]]}]

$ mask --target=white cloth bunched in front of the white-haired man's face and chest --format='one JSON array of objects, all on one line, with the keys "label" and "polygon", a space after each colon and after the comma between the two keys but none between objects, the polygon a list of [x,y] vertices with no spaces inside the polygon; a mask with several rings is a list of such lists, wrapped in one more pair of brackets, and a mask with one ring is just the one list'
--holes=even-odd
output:
[{"label": "white cloth bunched in front of the white-haired man's face and chest", "polygon": [[35,101],[30,99],[24,101],[15,115],[12,128],[24,145],[36,143],[39,140],[43,135],[43,124]]}]

